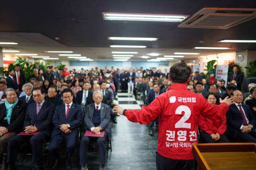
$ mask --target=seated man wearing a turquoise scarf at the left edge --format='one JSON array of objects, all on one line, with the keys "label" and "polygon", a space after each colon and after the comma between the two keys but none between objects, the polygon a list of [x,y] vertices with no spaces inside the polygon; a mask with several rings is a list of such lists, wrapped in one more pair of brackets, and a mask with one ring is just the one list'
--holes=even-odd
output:
[{"label": "seated man wearing a turquoise scarf at the left edge", "polygon": [[[22,131],[22,125],[28,104],[18,100],[16,91],[12,88],[4,90],[6,102],[0,104],[0,154],[3,154],[2,167],[6,170],[7,146],[9,140]],[[10,135],[3,135],[5,133]]]}]

